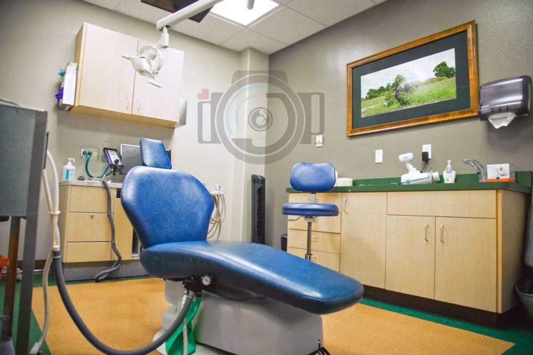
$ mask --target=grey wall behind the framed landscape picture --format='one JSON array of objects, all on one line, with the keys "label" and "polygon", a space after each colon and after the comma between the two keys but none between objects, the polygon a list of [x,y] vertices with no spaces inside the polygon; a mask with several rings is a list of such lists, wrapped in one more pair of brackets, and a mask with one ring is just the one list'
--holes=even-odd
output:
[{"label": "grey wall behind the framed landscape picture", "polygon": [[[533,76],[531,0],[389,0],[271,55],[269,69],[285,71],[294,91],[325,94],[325,134],[323,148],[298,145],[285,159],[267,164],[269,244],[279,245],[278,235],[287,230],[281,207],[296,162],[331,162],[341,177],[398,177],[407,172],[398,155],[413,152],[419,157],[422,144],[432,144],[430,166],[440,172],[452,159],[457,173],[472,173],[460,163],[466,157],[484,164],[511,162],[517,170],[533,168],[532,117],[499,130],[472,118],[346,137],[348,62],[471,20],[477,22],[480,83]],[[280,112],[271,103],[269,110]],[[384,162],[374,164],[374,150],[380,148]]]}]

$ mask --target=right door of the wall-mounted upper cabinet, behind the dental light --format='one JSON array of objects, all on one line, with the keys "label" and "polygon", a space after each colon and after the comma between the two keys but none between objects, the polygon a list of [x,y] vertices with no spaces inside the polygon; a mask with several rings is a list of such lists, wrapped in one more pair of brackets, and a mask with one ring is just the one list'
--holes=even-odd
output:
[{"label": "right door of the wall-mounted upper cabinet, behind the dental light", "polygon": [[[139,40],[138,48],[155,44]],[[137,51],[135,51],[137,52]],[[168,48],[158,75],[162,87],[150,84],[150,78],[135,72],[133,114],[155,119],[177,120],[180,114],[183,51]]]}]

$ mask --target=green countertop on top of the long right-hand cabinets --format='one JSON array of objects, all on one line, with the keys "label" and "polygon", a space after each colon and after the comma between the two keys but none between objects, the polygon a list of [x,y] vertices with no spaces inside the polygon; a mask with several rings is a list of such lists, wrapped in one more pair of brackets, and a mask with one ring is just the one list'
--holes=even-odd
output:
[{"label": "green countertop on top of the long right-hand cabinets", "polygon": [[[477,174],[457,175],[454,184],[400,184],[400,178],[380,178],[353,180],[353,186],[334,187],[328,192],[368,192],[368,191],[452,191],[452,190],[496,190],[504,189],[531,193],[532,172],[517,171],[516,182],[478,182]],[[287,192],[298,192],[287,187]]]}]

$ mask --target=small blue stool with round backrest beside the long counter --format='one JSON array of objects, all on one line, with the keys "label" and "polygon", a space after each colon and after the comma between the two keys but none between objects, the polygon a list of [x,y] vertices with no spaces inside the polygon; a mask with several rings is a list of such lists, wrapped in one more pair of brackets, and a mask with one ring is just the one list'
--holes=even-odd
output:
[{"label": "small blue stool with round backrest beside the long counter", "polygon": [[[303,217],[307,221],[307,252],[305,259],[311,261],[311,230],[316,217],[339,216],[339,207],[329,203],[317,203],[316,193],[329,191],[335,185],[335,168],[329,163],[298,163],[291,170],[291,186],[301,192],[310,193],[309,203],[286,203],[282,213],[287,216]],[[296,218],[295,220],[298,220]]]}]

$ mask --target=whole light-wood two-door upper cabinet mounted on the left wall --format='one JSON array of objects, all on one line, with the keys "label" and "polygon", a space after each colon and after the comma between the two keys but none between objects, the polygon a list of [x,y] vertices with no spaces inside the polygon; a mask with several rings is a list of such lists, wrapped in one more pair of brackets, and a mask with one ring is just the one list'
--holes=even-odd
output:
[{"label": "whole light-wood two-door upper cabinet mounted on the left wall", "polygon": [[83,24],[76,37],[76,101],[71,112],[174,127],[180,120],[183,51],[168,48],[158,74],[162,87],[142,76],[129,60],[154,45],[106,28]]}]

